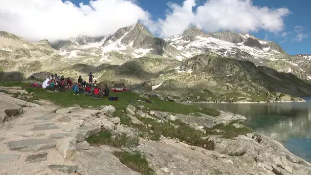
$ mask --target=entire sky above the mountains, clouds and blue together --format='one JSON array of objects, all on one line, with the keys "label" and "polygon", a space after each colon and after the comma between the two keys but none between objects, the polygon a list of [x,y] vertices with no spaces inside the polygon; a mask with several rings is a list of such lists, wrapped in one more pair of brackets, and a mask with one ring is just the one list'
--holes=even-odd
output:
[{"label": "entire sky above the mountains, clouds and blue together", "polygon": [[0,30],[53,42],[110,35],[140,21],[158,37],[189,26],[235,30],[275,41],[291,55],[311,54],[310,6],[306,0],[0,0]]}]

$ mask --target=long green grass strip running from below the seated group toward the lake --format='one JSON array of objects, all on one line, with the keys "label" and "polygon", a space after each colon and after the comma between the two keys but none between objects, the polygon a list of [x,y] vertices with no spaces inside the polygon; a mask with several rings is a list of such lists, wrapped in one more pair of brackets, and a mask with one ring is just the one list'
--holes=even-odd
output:
[{"label": "long green grass strip running from below the seated group toward the lake", "polygon": [[[0,86],[21,86],[25,88],[26,85],[29,83],[23,82],[0,82]],[[117,110],[125,110],[128,104],[137,104],[133,102],[129,102],[130,100],[147,100],[144,98],[140,98],[138,94],[132,92],[119,92],[114,93],[110,92],[109,96],[119,97],[118,101],[108,101],[108,99],[104,98],[101,100],[94,99],[93,97],[87,97],[83,94],[79,96],[73,95],[73,91],[68,92],[47,92],[43,89],[35,89],[35,88],[25,88],[25,90],[29,93],[33,92],[34,98],[45,99],[49,100],[57,105],[63,107],[73,106],[75,104],[80,105],[81,107],[93,106],[99,107],[101,105],[113,105],[116,107]],[[143,104],[145,107],[149,107],[150,110],[154,111],[164,111],[169,113],[179,113],[179,114],[189,114],[193,112],[204,113],[210,116],[218,116],[220,113],[217,110],[212,108],[198,108],[191,105],[184,105],[175,102],[168,102],[163,101],[158,98],[150,98],[150,100],[154,101],[155,103],[138,103]]]}]

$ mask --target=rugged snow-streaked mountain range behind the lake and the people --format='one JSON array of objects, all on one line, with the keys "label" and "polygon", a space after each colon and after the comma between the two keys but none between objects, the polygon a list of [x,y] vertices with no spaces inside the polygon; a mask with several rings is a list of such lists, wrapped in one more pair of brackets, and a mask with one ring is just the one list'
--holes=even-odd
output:
[{"label": "rugged snow-streaked mountain range behind the lake and the people", "polygon": [[121,81],[183,101],[291,101],[311,95],[311,55],[288,55],[276,42],[247,33],[189,27],[159,38],[140,23],[109,36],[29,42],[0,31],[0,74],[57,72]]}]

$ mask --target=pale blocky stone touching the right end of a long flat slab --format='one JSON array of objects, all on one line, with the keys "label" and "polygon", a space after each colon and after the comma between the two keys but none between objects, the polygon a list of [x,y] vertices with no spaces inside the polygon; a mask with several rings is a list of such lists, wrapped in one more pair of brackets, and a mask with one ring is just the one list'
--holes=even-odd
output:
[{"label": "pale blocky stone touching the right end of a long flat slab", "polygon": [[77,139],[74,137],[63,138],[57,145],[57,151],[63,156],[65,160],[73,161],[76,153]]}]

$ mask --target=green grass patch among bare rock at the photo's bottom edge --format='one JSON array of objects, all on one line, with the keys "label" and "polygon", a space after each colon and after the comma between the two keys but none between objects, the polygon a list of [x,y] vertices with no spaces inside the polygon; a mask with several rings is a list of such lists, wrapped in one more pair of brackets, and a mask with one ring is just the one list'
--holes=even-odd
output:
[{"label": "green grass patch among bare rock at the photo's bottom edge", "polygon": [[144,158],[138,151],[133,153],[117,151],[114,152],[114,155],[119,158],[121,163],[143,175],[156,174],[154,170],[149,168],[146,158]]}]

